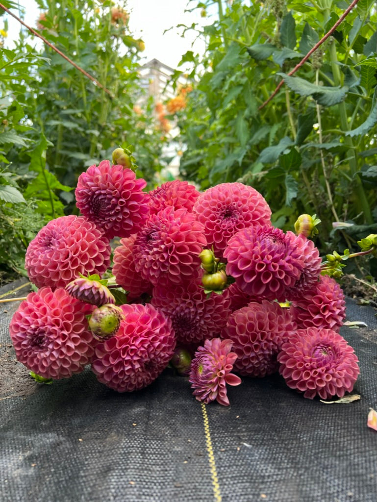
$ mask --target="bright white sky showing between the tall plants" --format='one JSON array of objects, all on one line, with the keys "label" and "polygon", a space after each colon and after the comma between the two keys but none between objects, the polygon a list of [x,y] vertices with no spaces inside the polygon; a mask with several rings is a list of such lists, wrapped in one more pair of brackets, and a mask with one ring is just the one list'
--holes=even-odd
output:
[{"label": "bright white sky showing between the tall plants", "polygon": [[[39,17],[39,10],[34,0],[20,0],[20,5],[26,10],[25,23],[34,28]],[[127,5],[127,10],[130,12],[130,30],[135,38],[141,37],[146,45],[145,51],[141,53],[144,58],[142,62],[156,58],[162,63],[176,68],[182,54],[187,50],[194,50],[194,52],[203,50],[204,46],[199,41],[195,42],[194,48],[191,47],[191,43],[195,39],[194,32],[187,32],[185,38],[182,38],[180,36],[182,30],[175,28],[178,24],[190,26],[192,23],[210,23],[208,19],[200,17],[199,10],[185,13],[188,0],[129,0]],[[196,2],[191,2],[189,5],[192,8]],[[13,12],[17,14],[17,12]],[[12,40],[18,38],[21,25],[11,16],[8,16],[8,22],[7,45],[11,46]],[[164,35],[164,30],[171,27],[173,29]],[[2,28],[0,18],[0,29]]]}]

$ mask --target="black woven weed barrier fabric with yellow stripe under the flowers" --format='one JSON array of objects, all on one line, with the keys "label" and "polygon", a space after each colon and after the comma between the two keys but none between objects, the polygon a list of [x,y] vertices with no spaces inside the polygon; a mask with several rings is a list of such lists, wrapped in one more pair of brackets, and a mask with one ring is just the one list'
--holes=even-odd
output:
[{"label": "black woven weed barrier fabric with yellow stripe under the flowers", "polygon": [[[12,293],[20,284],[0,297],[25,295]],[[200,404],[170,369],[131,394],[107,389],[89,368],[37,384],[11,353],[18,305],[0,306],[2,361],[17,368],[1,374],[2,502],[376,502],[377,433],[366,426],[377,408],[371,307],[347,299],[347,319],[367,328],[341,329],[359,358],[359,401],[304,399],[273,375],[243,378],[223,407]]]}]

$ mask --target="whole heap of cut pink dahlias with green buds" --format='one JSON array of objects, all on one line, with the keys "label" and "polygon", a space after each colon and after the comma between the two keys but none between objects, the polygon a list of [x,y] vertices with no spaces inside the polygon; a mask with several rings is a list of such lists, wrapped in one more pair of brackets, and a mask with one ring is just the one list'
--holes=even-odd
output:
[{"label": "whole heap of cut pink dahlias with green buds", "polygon": [[90,166],[75,190],[81,214],[50,221],[30,243],[25,268],[39,289],[10,325],[20,362],[45,379],[90,365],[117,392],[170,367],[197,400],[225,406],[240,376],[280,372],[310,399],[352,391],[344,294],[322,275],[315,216],[285,233],[250,186],[199,193],[176,180],[146,192],[122,164]]}]

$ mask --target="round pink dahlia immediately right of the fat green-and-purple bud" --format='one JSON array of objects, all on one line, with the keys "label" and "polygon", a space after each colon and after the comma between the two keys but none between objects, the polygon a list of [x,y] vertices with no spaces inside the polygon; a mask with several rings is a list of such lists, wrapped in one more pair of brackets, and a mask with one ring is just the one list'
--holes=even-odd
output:
[{"label": "round pink dahlia immediately right of the fat green-and-purple bud", "polygon": [[168,365],[176,339],[171,321],[152,305],[121,305],[116,334],[99,343],[92,358],[97,379],[117,392],[151,384]]}]

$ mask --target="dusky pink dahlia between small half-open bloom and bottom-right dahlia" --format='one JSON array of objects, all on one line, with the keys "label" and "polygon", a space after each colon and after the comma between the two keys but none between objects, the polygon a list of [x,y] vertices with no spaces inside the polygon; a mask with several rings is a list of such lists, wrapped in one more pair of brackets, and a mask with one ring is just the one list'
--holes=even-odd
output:
[{"label": "dusky pink dahlia between small half-open bloom and bottom-right dahlia", "polygon": [[262,300],[233,312],[221,337],[233,342],[237,373],[262,377],[279,369],[278,353],[288,333],[295,328],[289,309]]}]

